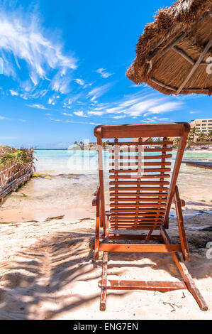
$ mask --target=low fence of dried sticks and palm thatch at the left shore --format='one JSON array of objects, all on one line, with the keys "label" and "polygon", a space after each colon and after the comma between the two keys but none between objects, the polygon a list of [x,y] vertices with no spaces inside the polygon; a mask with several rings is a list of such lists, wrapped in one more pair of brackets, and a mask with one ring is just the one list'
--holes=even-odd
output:
[{"label": "low fence of dried sticks and palm thatch at the left shore", "polygon": [[33,149],[0,146],[0,200],[32,176],[33,159]]}]

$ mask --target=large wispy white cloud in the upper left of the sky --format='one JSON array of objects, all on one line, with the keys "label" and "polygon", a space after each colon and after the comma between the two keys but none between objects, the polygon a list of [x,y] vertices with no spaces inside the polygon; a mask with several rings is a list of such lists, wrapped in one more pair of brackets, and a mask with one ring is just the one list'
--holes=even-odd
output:
[{"label": "large wispy white cloud in the upper left of the sky", "polygon": [[77,68],[77,59],[64,55],[62,45],[48,38],[38,16],[20,9],[13,12],[1,9],[0,36],[4,75],[18,79],[16,71],[21,69],[18,61],[24,60],[33,85],[38,85],[40,80],[48,80],[50,71],[57,70],[52,89],[57,92],[67,90],[67,80],[61,80],[61,77]]}]

